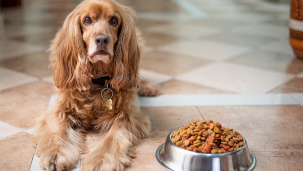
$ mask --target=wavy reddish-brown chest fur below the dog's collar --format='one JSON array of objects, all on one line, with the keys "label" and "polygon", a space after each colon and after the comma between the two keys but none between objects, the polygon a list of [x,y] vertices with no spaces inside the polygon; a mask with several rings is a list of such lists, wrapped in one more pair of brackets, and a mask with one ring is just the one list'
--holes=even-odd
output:
[{"label": "wavy reddish-brown chest fur below the dog's collar", "polygon": [[[89,93],[77,92],[77,98],[72,96],[66,98],[65,113],[75,128],[107,131],[116,118],[127,119],[128,113],[122,112],[126,108],[136,110],[136,91],[119,91],[118,93],[113,91],[112,109],[108,109],[105,107],[106,100],[101,96],[103,88],[104,86],[97,85]],[[68,94],[75,94],[75,92]],[[105,98],[110,95],[110,91],[103,93]]]}]

